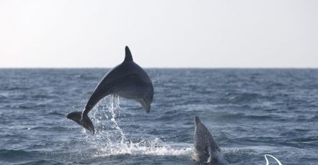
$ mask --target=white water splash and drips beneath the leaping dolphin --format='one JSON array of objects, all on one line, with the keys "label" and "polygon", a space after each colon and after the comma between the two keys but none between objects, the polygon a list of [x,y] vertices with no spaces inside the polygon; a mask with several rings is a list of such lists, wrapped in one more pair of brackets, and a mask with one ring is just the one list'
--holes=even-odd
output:
[{"label": "white water splash and drips beneath the leaping dolphin", "polygon": [[86,132],[86,142],[96,150],[94,156],[111,156],[120,154],[180,156],[193,154],[191,147],[181,148],[165,144],[159,138],[141,139],[132,142],[120,128],[117,121],[119,113],[119,97],[108,96],[99,103],[91,113],[91,119],[96,127],[96,134],[91,136]]}]

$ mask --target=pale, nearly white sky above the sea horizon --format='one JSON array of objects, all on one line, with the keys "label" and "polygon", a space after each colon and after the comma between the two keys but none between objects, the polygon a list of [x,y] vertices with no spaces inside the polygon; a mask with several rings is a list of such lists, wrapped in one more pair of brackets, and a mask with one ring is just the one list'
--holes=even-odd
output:
[{"label": "pale, nearly white sky above the sea horizon", "polygon": [[0,0],[0,68],[318,68],[317,0]]}]

